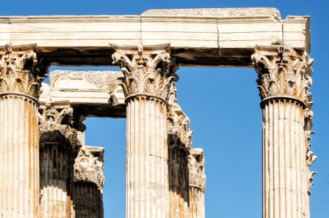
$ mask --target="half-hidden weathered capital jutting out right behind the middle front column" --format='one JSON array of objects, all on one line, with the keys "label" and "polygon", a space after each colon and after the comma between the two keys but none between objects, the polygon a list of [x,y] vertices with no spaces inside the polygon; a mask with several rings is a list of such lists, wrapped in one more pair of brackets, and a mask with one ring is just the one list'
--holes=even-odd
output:
[{"label": "half-hidden weathered capital jutting out right behind the middle front column", "polygon": [[190,119],[177,103],[175,87],[170,92],[168,104],[169,145],[189,149],[192,145],[193,131],[190,129]]}]

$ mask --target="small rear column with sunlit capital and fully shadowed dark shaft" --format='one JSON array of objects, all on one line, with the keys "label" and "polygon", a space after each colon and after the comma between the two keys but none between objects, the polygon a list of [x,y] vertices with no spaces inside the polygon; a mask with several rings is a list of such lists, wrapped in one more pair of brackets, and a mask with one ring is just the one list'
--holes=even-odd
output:
[{"label": "small rear column with sunlit capital and fully shadowed dark shaft", "polygon": [[103,218],[104,148],[82,146],[74,164],[76,218]]}]

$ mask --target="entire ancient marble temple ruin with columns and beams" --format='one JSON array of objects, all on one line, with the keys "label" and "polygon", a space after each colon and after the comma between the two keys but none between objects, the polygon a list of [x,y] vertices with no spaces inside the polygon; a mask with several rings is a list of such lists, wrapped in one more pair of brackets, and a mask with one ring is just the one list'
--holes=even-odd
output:
[{"label": "entire ancient marble temple ruin with columns and beams", "polygon": [[[103,217],[104,149],[86,145],[87,117],[126,119],[127,218],[206,217],[206,157],[176,72],[230,66],[258,73],[263,217],[309,218],[309,25],[274,8],[1,17],[1,217]],[[42,83],[52,65],[121,71],[55,70]]]}]

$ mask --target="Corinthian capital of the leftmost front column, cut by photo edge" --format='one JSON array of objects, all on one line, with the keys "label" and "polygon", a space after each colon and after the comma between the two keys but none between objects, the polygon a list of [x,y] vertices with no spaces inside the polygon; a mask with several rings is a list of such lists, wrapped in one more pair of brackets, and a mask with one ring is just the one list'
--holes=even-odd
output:
[{"label": "Corinthian capital of the leftmost front column, cut by photo edge", "polygon": [[47,73],[47,64],[35,52],[36,45],[0,48],[0,93],[19,92],[36,99]]}]

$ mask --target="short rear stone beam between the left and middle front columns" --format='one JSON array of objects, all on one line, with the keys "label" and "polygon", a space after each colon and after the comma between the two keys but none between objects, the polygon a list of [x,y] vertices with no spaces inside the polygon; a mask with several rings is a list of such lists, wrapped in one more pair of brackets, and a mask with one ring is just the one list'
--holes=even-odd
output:
[{"label": "short rear stone beam between the left and middle front columns", "polygon": [[62,108],[70,105],[86,117],[125,117],[125,96],[119,86],[121,71],[53,70],[49,85],[42,83],[40,109],[47,103]]}]

